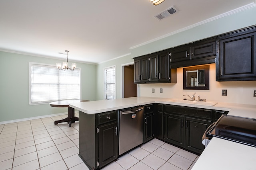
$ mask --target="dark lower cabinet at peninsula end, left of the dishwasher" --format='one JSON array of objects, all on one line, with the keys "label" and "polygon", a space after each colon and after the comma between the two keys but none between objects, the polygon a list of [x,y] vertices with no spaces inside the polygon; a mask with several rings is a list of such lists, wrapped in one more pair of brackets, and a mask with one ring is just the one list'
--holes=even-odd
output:
[{"label": "dark lower cabinet at peninsula end, left of the dishwasher", "polygon": [[118,111],[86,114],[79,111],[79,156],[90,169],[118,158]]}]

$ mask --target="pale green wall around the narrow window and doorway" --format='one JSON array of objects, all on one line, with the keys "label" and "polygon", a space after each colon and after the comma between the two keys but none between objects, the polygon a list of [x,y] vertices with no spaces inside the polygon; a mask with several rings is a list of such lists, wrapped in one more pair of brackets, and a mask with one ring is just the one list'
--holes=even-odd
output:
[{"label": "pale green wall around the narrow window and doorway", "polygon": [[104,68],[116,65],[116,98],[122,98],[122,64],[133,62],[131,55],[126,55],[97,65],[97,100],[104,99]]}]

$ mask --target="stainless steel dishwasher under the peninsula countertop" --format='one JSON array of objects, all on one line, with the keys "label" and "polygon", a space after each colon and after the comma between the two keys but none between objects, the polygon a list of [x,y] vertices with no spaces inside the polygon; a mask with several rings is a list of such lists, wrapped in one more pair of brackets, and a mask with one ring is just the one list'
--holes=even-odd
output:
[{"label": "stainless steel dishwasher under the peninsula countertop", "polygon": [[143,108],[120,110],[119,155],[143,143]]}]

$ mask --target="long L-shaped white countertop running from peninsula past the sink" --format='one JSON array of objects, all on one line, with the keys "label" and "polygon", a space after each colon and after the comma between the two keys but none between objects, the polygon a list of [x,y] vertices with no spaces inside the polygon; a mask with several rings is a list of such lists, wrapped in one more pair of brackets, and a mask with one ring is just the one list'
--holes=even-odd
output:
[{"label": "long L-shaped white countertop running from peninsula past the sink", "polygon": [[172,98],[152,98],[152,97],[132,97],[132,98],[122,98],[114,100],[97,100],[91,102],[73,103],[70,107],[73,107],[79,111],[87,114],[96,114],[106,111],[125,109],[128,107],[141,106],[152,103],[159,104],[172,104],[177,106],[188,106],[188,107],[198,107],[204,109],[215,109],[222,111],[229,111],[228,115],[235,115],[241,117],[250,117],[256,119],[256,105],[248,104],[231,104],[218,102],[214,106],[201,106],[195,104],[184,104],[172,102]]}]

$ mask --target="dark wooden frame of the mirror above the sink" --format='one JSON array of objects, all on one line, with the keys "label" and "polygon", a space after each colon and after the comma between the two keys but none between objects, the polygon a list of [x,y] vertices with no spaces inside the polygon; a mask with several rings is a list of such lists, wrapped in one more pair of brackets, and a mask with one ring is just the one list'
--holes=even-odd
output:
[{"label": "dark wooden frame of the mirror above the sink", "polygon": [[[186,71],[203,70],[203,69],[205,70],[205,74],[204,74],[205,86],[187,87]],[[209,65],[183,68],[183,89],[188,89],[188,90],[209,90]]]}]

